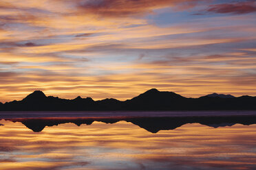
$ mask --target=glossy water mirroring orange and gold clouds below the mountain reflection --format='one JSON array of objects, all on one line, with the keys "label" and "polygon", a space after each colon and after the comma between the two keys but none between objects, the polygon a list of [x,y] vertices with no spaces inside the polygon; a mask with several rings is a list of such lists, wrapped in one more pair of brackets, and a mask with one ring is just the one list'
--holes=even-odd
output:
[{"label": "glossy water mirroring orange and gold clouds below the mountain reflection", "polygon": [[255,124],[149,132],[127,121],[63,122],[33,132],[23,123],[0,121],[0,169],[256,169]]}]

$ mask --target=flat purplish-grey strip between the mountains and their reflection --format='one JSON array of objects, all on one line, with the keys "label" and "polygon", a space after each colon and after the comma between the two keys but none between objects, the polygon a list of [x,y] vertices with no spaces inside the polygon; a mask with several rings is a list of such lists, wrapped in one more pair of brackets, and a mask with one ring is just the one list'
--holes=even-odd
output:
[{"label": "flat purplish-grey strip between the mountains and their reflection", "polygon": [[81,111],[81,112],[44,112],[44,111],[8,111],[0,112],[0,119],[28,117],[191,117],[191,116],[231,116],[256,115],[256,110],[225,111]]}]

